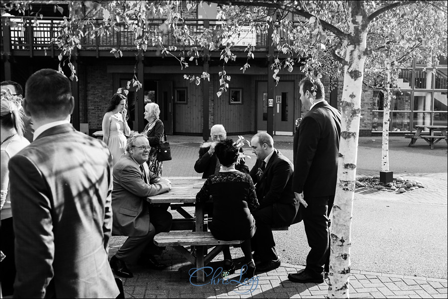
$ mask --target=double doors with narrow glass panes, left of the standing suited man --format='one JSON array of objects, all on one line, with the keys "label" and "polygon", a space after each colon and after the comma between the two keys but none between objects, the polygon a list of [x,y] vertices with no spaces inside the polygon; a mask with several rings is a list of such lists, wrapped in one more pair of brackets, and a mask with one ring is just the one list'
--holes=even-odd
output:
[{"label": "double doors with narrow glass panes, left of the standing suited man", "polygon": [[[267,130],[267,82],[257,83],[257,130]],[[279,82],[274,89],[274,135],[293,135],[294,82]]]}]

